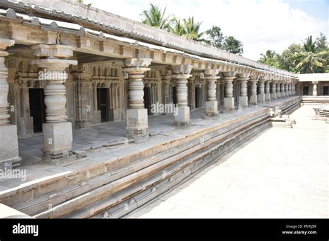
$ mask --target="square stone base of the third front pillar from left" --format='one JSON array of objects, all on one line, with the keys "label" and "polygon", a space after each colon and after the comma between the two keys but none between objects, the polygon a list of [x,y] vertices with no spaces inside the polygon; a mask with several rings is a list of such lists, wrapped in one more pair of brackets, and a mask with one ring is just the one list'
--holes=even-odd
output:
[{"label": "square stone base of the third front pillar from left", "polygon": [[147,109],[127,109],[127,136],[135,142],[149,140]]}]

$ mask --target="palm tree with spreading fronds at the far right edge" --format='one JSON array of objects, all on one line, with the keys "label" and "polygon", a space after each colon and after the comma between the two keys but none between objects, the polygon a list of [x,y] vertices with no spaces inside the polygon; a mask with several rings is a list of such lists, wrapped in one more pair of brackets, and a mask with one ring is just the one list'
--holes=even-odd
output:
[{"label": "palm tree with spreading fronds at the far right edge", "polygon": [[328,54],[328,50],[317,51],[317,42],[313,42],[312,36],[309,36],[303,42],[303,51],[294,54],[294,58],[298,62],[294,69],[302,68],[305,73],[314,73],[314,67],[323,69],[326,60],[322,56],[326,54]]}]

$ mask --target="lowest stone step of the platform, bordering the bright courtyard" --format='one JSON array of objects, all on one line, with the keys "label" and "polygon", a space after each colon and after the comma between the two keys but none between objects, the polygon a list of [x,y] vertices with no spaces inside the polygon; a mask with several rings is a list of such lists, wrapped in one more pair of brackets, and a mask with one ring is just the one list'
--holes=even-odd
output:
[{"label": "lowest stone step of the platform, bordering the bright courtyard", "polygon": [[[268,127],[264,125],[264,127]],[[258,133],[257,131],[251,132],[248,136],[244,137],[246,139]],[[233,138],[235,139],[235,138]],[[241,143],[237,141],[234,145],[229,148],[232,150],[235,145]],[[181,184],[187,177],[191,178],[193,173],[197,173],[206,166],[217,161],[217,159],[223,154],[228,152],[224,150],[219,152],[217,150],[218,143],[214,143],[211,148],[206,148],[207,150],[202,150],[200,152],[194,153],[191,156],[182,159],[173,165],[165,168],[162,172],[155,173],[149,179],[146,179],[139,184],[134,184],[129,191],[123,190],[118,195],[113,195],[111,197],[106,197],[100,202],[96,202],[82,208],[80,210],[74,211],[65,215],[65,218],[117,218],[126,215],[135,208],[138,208],[147,202],[151,201],[155,197],[158,197],[162,193],[167,192],[174,186]],[[217,151],[217,152],[216,152]],[[168,175],[163,178],[162,173],[165,171]],[[161,178],[162,177],[162,178]],[[160,180],[160,181],[158,181]],[[146,183],[147,181],[147,183]],[[151,184],[151,185],[150,185]],[[141,189],[141,187],[144,187]],[[146,188],[145,188],[146,187]],[[135,194],[131,194],[135,191]],[[123,202],[116,202],[116,197],[125,197]]]}]

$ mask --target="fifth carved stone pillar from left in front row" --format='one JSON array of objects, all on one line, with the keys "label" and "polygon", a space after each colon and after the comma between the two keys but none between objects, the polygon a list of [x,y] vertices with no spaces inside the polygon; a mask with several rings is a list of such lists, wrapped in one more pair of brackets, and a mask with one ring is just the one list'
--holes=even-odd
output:
[{"label": "fifth carved stone pillar from left in front row", "polygon": [[216,81],[220,78],[218,69],[205,70],[207,82],[207,101],[205,102],[205,114],[207,116],[218,116],[218,104],[216,100]]}]

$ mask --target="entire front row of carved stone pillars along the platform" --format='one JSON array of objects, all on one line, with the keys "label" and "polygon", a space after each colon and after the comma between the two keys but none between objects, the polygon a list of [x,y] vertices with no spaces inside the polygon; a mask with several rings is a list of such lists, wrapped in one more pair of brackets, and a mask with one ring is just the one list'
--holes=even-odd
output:
[{"label": "entire front row of carved stone pillars along the platform", "polygon": [[[8,70],[4,64],[4,57],[8,55],[4,51],[8,46],[12,46],[12,40],[0,39],[0,136],[6,136],[6,139],[0,140],[0,168],[11,168],[12,164],[19,161],[18,143],[17,143],[17,127],[10,125],[8,112]],[[73,48],[65,45],[47,45],[38,44],[32,46],[34,55],[38,57],[33,61],[40,68],[47,70],[50,74],[44,75],[44,102],[46,105],[46,123],[42,126],[44,145],[42,152],[47,159],[58,159],[68,157],[72,151],[72,126],[67,121],[67,98],[65,81],[67,73],[65,69],[70,64],[77,64],[76,60],[68,60],[73,56]],[[128,73],[128,89],[129,102],[127,110],[127,136],[132,137],[135,141],[145,141],[149,139],[149,125],[147,109],[144,109],[144,73],[149,71],[151,59],[149,58],[131,58],[124,60],[123,69]],[[192,76],[192,65],[180,64],[172,66],[174,75],[171,77],[176,81],[176,95],[178,101],[178,114],[174,116],[174,125],[178,127],[186,127],[190,125],[189,107],[187,106],[187,81]],[[52,73],[56,73],[56,76]],[[205,114],[207,116],[217,116],[217,100],[216,100],[216,81],[220,78],[217,76],[219,70],[205,70],[205,80],[207,82],[207,102],[205,105]],[[226,83],[226,96],[224,98],[224,107],[226,110],[235,109],[233,98],[233,80],[235,72],[223,73],[223,80]],[[239,97],[239,105],[248,106],[248,98],[246,95],[246,82],[250,80],[251,100],[250,103],[256,105],[258,99],[271,100],[280,98],[280,85],[272,82],[274,91],[269,96],[269,83],[264,91],[264,80],[260,79],[260,94],[257,96],[257,76],[239,75],[238,80],[241,83],[241,96]],[[277,88],[277,89],[276,89]],[[286,89],[285,89],[286,88]],[[294,95],[294,85],[282,84],[282,97]]]}]

